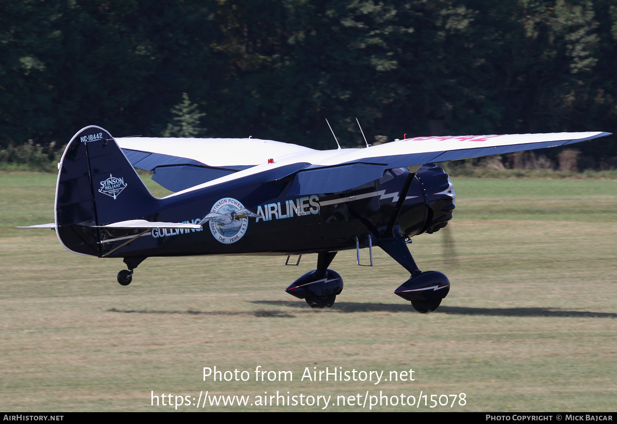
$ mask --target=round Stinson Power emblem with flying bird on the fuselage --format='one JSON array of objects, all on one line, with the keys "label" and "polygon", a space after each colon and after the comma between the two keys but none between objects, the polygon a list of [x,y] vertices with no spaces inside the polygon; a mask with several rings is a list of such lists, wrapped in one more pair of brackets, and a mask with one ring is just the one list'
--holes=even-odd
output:
[{"label": "round Stinson Power emblem with flying bird on the fuselage", "polygon": [[244,236],[249,225],[247,217],[251,215],[236,199],[225,197],[212,206],[206,218],[214,238],[221,243],[230,244]]}]

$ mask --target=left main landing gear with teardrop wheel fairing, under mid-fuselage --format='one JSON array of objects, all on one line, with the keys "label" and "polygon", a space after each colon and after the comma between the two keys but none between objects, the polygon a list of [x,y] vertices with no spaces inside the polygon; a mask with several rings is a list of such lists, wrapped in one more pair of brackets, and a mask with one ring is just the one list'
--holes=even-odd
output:
[{"label": "left main landing gear with teardrop wheel fairing, under mid-fuselage", "polygon": [[298,299],[304,299],[312,308],[333,306],[336,295],[341,294],[343,280],[339,273],[328,269],[337,252],[320,252],[317,269],[307,272],[294,281],[285,291]]}]

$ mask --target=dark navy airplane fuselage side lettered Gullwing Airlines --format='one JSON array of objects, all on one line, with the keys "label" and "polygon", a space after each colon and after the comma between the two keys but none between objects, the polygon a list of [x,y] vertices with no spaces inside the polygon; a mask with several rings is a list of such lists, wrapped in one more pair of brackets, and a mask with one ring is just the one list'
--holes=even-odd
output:
[{"label": "dark navy airplane fuselage side lettered Gullwing Airlines", "polygon": [[[300,254],[352,249],[356,237],[366,241],[368,236],[379,237],[386,229],[407,177],[407,170],[399,168],[372,183],[336,194],[286,196],[291,184],[291,179],[287,179],[247,183],[232,189],[223,183],[168,197],[163,199],[165,204],[160,212],[143,218],[199,223],[209,214],[228,214],[228,217],[204,222],[201,230],[154,228],[109,257]],[[431,215],[420,180],[423,180],[422,169],[413,178],[395,226],[395,233],[405,237],[426,231]],[[447,199],[453,199],[453,192]],[[230,219],[232,212],[242,209],[248,209],[253,216]],[[126,231],[101,230],[101,239],[120,238],[126,236]],[[101,246],[99,256],[117,244]]]}]

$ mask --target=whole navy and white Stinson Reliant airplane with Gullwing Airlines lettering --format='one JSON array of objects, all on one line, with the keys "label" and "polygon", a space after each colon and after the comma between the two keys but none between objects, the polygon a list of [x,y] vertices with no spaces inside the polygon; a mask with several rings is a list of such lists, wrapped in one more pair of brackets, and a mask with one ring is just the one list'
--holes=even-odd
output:
[{"label": "whole navy and white Stinson Reliant airplane with Gullwing Airlines lettering", "polygon": [[[317,269],[286,291],[330,307],[343,288],[328,266],[338,251],[378,246],[410,278],[394,293],[436,309],[450,282],[418,269],[407,247],[452,218],[452,181],[436,162],[564,146],[609,133],[430,136],[363,149],[316,151],[261,139],[113,138],[91,125],[68,143],[53,228],[81,255],[123,258],[133,270],[154,256],[317,253]],[[135,168],[174,191],[153,197]],[[299,260],[299,257],[298,257]],[[372,264],[372,254],[371,254]]]}]

